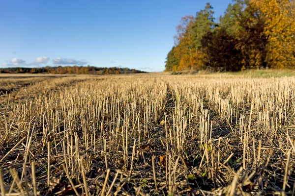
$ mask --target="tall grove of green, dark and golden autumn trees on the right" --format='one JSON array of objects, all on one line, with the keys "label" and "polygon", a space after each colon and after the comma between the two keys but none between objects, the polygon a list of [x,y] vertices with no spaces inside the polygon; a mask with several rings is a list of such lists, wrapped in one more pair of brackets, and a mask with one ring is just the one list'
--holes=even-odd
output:
[{"label": "tall grove of green, dark and golden autumn trees on the right", "polygon": [[181,18],[166,71],[295,69],[295,0],[233,0],[213,14],[207,3]]}]

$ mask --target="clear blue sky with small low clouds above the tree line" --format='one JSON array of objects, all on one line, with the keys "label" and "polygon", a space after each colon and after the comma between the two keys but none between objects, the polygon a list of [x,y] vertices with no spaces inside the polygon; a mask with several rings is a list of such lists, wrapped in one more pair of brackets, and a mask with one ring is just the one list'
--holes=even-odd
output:
[{"label": "clear blue sky with small low clouds above the tree line", "polygon": [[232,0],[0,0],[0,67],[163,71],[180,18]]}]

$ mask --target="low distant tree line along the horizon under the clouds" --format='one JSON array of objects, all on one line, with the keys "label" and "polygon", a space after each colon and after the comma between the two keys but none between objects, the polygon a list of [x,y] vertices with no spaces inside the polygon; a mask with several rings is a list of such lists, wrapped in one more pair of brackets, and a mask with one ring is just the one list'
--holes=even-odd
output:
[{"label": "low distant tree line along the horizon under the clouds", "polygon": [[140,70],[128,68],[100,68],[93,66],[67,66],[67,67],[44,67],[44,68],[3,68],[0,73],[52,73],[52,74],[121,74],[121,73],[145,73]]}]

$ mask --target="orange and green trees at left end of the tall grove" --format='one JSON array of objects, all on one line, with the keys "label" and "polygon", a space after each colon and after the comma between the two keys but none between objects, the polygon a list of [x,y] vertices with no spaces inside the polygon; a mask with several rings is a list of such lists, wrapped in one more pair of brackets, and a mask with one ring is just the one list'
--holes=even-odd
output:
[{"label": "orange and green trees at left end of the tall grove", "polygon": [[177,26],[175,47],[169,52],[166,71],[187,69],[204,69],[207,57],[201,48],[201,40],[207,32],[215,27],[212,6],[207,3],[204,10],[196,13],[196,17],[185,16]]}]

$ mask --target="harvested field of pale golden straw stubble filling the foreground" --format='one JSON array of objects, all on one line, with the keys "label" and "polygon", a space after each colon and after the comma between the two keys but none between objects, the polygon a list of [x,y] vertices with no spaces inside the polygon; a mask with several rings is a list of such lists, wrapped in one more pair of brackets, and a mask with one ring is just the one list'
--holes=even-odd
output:
[{"label": "harvested field of pale golden straw stubble filling the foreground", "polygon": [[0,74],[1,195],[292,195],[294,74]]}]

